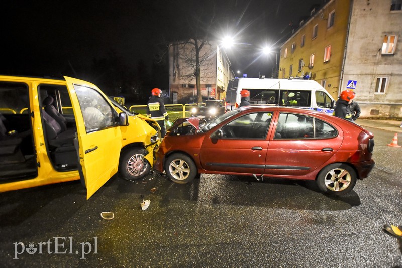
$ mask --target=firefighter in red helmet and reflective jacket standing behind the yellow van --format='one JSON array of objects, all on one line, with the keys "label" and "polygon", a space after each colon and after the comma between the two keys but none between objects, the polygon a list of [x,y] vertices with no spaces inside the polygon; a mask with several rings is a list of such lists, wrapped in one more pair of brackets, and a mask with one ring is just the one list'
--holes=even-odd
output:
[{"label": "firefighter in red helmet and reflective jacket standing behind the yellow van", "polygon": [[154,119],[160,126],[161,137],[166,135],[166,125],[165,120],[169,120],[169,115],[165,110],[165,103],[160,98],[162,90],[159,88],[154,88],[151,91],[151,97],[149,98],[147,105],[147,116]]}]

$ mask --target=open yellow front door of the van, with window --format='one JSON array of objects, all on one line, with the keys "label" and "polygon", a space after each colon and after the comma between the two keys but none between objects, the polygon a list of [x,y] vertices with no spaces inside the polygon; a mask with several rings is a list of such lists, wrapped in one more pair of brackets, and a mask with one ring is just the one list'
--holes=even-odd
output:
[{"label": "open yellow front door of the van, with window", "polygon": [[64,78],[76,118],[81,176],[89,199],[117,172],[122,134],[116,127],[116,111],[102,91],[89,82]]}]

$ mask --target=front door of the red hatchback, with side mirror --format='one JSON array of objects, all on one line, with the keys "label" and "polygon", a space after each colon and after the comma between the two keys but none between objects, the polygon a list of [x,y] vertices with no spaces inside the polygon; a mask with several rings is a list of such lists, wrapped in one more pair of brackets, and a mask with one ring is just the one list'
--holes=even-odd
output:
[{"label": "front door of the red hatchback, with side mirror", "polygon": [[212,172],[262,174],[271,116],[267,112],[247,114],[214,132],[221,131],[221,137],[206,136],[200,150],[202,167]]}]

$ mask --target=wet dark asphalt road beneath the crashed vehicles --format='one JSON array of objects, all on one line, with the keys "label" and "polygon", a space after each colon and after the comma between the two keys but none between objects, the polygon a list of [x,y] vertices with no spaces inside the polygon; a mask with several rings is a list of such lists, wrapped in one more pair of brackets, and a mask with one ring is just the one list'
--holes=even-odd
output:
[{"label": "wet dark asphalt road beneath the crashed vehicles", "polygon": [[[376,166],[339,198],[314,182],[216,175],[115,176],[89,200],[79,182],[1,193],[1,266],[401,267],[402,241],[382,226],[402,225],[402,148],[386,146],[394,132],[367,129]],[[16,253],[31,241],[36,253]]]}]

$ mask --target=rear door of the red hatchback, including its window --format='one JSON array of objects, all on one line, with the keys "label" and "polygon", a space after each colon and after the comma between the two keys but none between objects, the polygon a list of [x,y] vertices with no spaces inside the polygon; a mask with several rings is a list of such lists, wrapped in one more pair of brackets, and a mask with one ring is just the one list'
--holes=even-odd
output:
[{"label": "rear door of the red hatchback, including its window", "polygon": [[336,154],[343,141],[341,130],[302,114],[280,113],[274,128],[266,157],[267,175],[306,175]]}]

